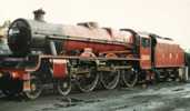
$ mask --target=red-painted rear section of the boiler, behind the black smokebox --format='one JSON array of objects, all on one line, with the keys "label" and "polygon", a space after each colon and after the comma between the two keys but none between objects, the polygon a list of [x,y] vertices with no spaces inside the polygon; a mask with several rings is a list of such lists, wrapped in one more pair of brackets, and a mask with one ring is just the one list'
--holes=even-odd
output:
[{"label": "red-painted rear section of the boiler, behind the black smokebox", "polygon": [[73,38],[73,40],[67,40],[63,43],[63,49],[67,52],[72,50],[82,51],[84,48],[91,48],[94,53],[123,51],[127,46],[133,43],[133,34],[129,31],[84,26],[63,26],[62,30],[64,36]]}]

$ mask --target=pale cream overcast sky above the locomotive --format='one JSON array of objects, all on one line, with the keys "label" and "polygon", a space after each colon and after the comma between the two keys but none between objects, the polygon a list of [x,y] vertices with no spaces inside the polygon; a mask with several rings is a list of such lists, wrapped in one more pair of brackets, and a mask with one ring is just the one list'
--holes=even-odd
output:
[{"label": "pale cream overcast sky above the locomotive", "polygon": [[32,19],[46,10],[46,21],[76,24],[97,21],[101,27],[132,28],[169,37],[190,48],[190,0],[0,0],[0,23]]}]

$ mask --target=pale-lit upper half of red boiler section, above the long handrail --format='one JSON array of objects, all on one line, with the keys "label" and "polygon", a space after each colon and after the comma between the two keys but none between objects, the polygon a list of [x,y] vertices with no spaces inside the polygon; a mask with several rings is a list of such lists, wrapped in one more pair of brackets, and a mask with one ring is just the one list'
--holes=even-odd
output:
[{"label": "pale-lit upper half of red boiler section, above the long handrail", "polygon": [[93,28],[84,26],[62,26],[62,34],[88,40],[103,40],[111,42],[133,43],[133,34],[111,28]]}]

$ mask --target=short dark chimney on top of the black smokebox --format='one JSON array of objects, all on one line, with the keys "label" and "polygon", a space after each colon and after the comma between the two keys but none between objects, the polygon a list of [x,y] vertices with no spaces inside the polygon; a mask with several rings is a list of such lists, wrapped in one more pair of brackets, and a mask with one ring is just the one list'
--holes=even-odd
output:
[{"label": "short dark chimney on top of the black smokebox", "polygon": [[34,10],[33,14],[34,14],[34,20],[44,22],[43,17],[44,17],[46,12],[42,9]]}]

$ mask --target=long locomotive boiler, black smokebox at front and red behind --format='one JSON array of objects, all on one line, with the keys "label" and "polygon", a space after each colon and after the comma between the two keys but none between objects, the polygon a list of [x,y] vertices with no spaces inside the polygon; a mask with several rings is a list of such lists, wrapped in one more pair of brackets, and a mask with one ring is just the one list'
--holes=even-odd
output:
[{"label": "long locomotive boiler, black smokebox at front and red behind", "polygon": [[134,44],[136,38],[128,30],[98,28],[96,22],[63,26],[47,23],[37,18],[14,20],[8,34],[9,47],[17,56],[27,56],[31,52],[59,54],[63,50],[64,53],[70,53],[77,52],[76,50],[82,51],[83,48],[91,48],[96,53],[123,51],[130,48],[129,44]]}]

